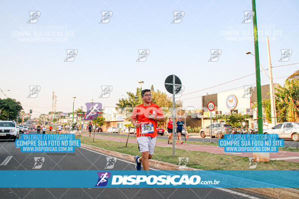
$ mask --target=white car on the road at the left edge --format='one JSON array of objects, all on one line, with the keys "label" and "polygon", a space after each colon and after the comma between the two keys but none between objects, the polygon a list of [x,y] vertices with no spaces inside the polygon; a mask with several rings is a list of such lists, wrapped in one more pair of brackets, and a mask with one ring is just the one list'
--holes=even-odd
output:
[{"label": "white car on the road at the left edge", "polygon": [[18,138],[19,130],[15,121],[0,121],[0,139],[15,139]]}]

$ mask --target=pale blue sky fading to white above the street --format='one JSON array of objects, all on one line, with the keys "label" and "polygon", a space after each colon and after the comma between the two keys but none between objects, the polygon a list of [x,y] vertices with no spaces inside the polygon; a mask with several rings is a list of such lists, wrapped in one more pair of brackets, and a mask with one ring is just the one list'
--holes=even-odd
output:
[{"label": "pale blue sky fading to white above the street", "polygon": [[[299,1],[256,4],[263,67],[268,68],[266,36],[273,66],[297,63]],[[181,79],[183,94],[221,84],[255,72],[254,57],[245,54],[254,52],[252,34],[241,39],[235,35],[252,31],[252,23],[241,23],[244,11],[250,10],[251,0],[1,1],[0,88],[11,90],[6,95],[19,100],[26,112],[50,111],[55,91],[57,110],[67,112],[73,96],[75,108],[91,99],[114,106],[127,91],[135,92],[140,80],[143,88],[153,85],[166,92],[164,80],[171,74]],[[36,23],[27,23],[29,11],[40,11]],[[109,23],[99,23],[101,11],[113,12]],[[181,23],[171,23],[173,11],[184,11]],[[57,39],[49,28],[62,31],[66,41],[21,41],[20,34],[30,32],[26,38]],[[66,49],[78,50],[73,62],[64,62]],[[136,62],[139,49],[149,49],[147,61]],[[221,49],[217,62],[208,62],[210,49]],[[279,62],[281,49],[292,49],[289,61]],[[298,69],[299,64],[273,69],[274,82],[283,84]],[[269,84],[263,73],[261,81]],[[200,107],[201,98],[193,97],[254,84],[255,76],[250,76],[180,100],[184,106]],[[37,98],[27,98],[31,85],[41,87]],[[113,91],[99,99],[104,85]]]}]

